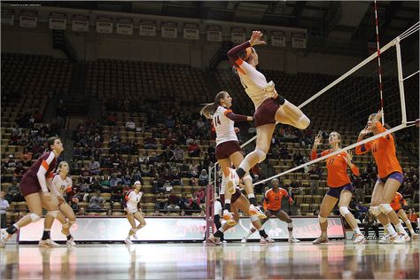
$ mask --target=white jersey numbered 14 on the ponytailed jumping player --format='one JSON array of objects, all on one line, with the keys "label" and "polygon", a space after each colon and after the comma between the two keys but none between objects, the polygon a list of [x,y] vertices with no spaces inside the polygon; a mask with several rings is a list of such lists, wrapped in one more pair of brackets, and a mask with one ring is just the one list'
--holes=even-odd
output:
[{"label": "white jersey numbered 14 on the ponytailed jumping player", "polygon": [[213,115],[213,125],[216,129],[216,145],[228,141],[237,141],[235,133],[235,121],[230,120],[226,113],[232,112],[230,109],[219,106]]}]

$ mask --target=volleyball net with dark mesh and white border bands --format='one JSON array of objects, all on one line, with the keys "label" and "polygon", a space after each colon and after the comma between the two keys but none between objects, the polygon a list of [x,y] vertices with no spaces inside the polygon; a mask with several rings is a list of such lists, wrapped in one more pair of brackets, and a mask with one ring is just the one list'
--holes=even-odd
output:
[{"label": "volleyball net with dark mesh and white border bands", "polygon": [[[308,129],[313,131],[313,136],[319,130],[327,133],[337,131],[342,138],[343,136],[345,138],[342,141],[343,148],[297,167],[291,167],[254,185],[266,183],[273,178],[292,173],[340,152],[354,149],[358,145],[415,125],[415,120],[418,118],[419,67],[418,61],[404,58],[403,53],[407,52],[406,49],[412,48],[413,38],[418,41],[418,31],[419,22],[345,74],[337,78],[326,77],[326,80],[330,79],[332,82],[299,105],[299,108],[311,120]],[[377,66],[378,55],[381,59],[381,69]],[[381,82],[379,82],[379,71],[382,75]],[[382,94],[380,94],[381,89]],[[287,96],[285,97],[288,99]],[[407,111],[406,99],[410,105],[409,110],[412,112]],[[294,103],[292,97],[290,100]],[[381,108],[384,110],[384,120],[389,129],[376,136],[366,136],[363,141],[356,142],[358,133],[366,126],[369,115],[377,113]],[[253,144],[255,138],[256,136],[241,147]],[[325,142],[327,141],[323,143]],[[327,146],[324,148],[328,149]],[[217,170],[217,163],[209,167],[210,182],[214,184],[215,191],[217,191],[218,182],[221,181]]]}]

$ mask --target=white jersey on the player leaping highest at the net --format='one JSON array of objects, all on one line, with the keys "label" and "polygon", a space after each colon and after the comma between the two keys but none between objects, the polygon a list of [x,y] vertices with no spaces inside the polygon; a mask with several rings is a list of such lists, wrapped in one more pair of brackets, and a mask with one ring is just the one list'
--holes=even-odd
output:
[{"label": "white jersey on the player leaping highest at the net", "polygon": [[241,80],[246,94],[253,100],[255,110],[257,110],[262,102],[269,98],[268,93],[265,90],[268,86],[266,77],[245,61],[242,62],[240,68],[245,74],[238,71],[239,79]]}]

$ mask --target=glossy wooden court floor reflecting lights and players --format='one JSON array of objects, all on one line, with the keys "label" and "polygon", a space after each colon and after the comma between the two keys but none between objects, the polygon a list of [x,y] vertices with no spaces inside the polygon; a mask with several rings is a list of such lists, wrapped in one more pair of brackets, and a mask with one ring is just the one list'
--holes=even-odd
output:
[{"label": "glossy wooden court floor reflecting lights and players", "polygon": [[7,245],[0,279],[419,279],[418,243]]}]

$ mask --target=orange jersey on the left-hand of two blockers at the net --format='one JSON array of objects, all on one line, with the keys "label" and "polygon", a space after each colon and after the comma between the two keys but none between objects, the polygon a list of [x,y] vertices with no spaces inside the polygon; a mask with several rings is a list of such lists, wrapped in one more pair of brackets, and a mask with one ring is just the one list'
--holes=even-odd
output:
[{"label": "orange jersey on the left-hand of two blockers at the net", "polygon": [[[331,150],[326,150],[317,154],[315,151],[311,153],[311,159],[317,159],[331,153]],[[346,163],[346,152],[340,152],[331,158],[326,159],[327,164],[327,185],[331,188],[338,188],[351,183],[350,178],[347,175],[347,163]],[[355,165],[352,167],[354,175],[360,175],[359,168]]]}]

